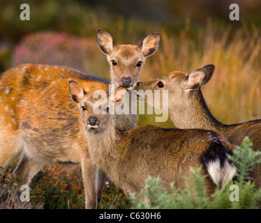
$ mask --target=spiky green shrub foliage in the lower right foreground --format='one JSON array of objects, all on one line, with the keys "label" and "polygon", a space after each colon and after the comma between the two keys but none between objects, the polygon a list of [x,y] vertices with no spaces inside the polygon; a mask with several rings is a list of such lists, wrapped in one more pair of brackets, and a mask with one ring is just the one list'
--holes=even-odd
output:
[{"label": "spiky green shrub foliage in the lower right foreground", "polygon": [[[177,209],[245,209],[259,208],[261,201],[261,189],[255,187],[251,182],[249,173],[261,162],[260,151],[253,151],[251,141],[246,137],[241,146],[234,149],[234,155],[228,158],[237,167],[236,180],[221,191],[216,188],[214,194],[207,195],[204,187],[204,178],[200,169],[191,169],[192,178],[187,178],[195,187],[186,187],[186,190],[179,190],[170,185],[166,191],[161,187],[160,178],[148,178],[147,186],[138,196],[132,194],[130,200],[133,208],[177,208]],[[236,190],[239,188],[239,201],[236,199]],[[231,201],[230,201],[231,200]]]}]

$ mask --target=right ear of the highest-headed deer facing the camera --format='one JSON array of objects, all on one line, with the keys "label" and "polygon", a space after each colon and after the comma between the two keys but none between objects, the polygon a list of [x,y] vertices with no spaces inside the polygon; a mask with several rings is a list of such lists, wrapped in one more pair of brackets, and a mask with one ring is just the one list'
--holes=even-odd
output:
[{"label": "right ear of the highest-headed deer facing the camera", "polygon": [[152,33],[142,41],[140,49],[145,57],[151,56],[158,49],[161,33]]}]

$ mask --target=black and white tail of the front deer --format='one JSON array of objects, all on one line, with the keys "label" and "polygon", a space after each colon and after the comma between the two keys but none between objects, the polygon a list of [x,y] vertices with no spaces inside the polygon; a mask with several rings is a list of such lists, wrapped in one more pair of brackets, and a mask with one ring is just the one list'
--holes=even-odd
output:
[{"label": "black and white tail of the front deer", "polygon": [[200,157],[200,161],[211,180],[221,190],[225,189],[225,185],[232,180],[237,171],[236,167],[228,160],[228,154],[232,155],[230,148],[221,141],[213,141]]}]

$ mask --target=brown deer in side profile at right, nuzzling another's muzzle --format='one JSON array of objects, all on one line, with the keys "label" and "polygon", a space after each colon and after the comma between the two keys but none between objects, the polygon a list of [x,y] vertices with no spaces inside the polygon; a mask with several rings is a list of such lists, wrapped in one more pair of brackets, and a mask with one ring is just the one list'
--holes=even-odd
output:
[{"label": "brown deer in side profile at right, nuzzling another's muzzle", "polygon": [[[249,137],[253,142],[253,149],[260,151],[261,120],[225,125],[217,121],[209,111],[201,87],[207,84],[213,72],[214,65],[212,64],[194,70],[190,74],[174,71],[153,81],[139,82],[136,90],[167,90],[169,94],[168,112],[177,128],[202,128],[221,132],[233,145],[240,145],[244,137]],[[149,102],[151,98],[146,97],[145,100]],[[161,108],[160,103],[155,103],[155,105]],[[255,180],[255,184],[261,187],[261,169],[255,169],[251,176]]]}]

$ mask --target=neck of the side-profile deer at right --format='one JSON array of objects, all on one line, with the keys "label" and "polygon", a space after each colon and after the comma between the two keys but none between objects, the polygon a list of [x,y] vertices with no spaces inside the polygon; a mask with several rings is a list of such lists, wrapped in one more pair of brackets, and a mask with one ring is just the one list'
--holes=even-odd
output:
[{"label": "neck of the side-profile deer at right", "polygon": [[198,91],[190,95],[191,100],[186,104],[186,109],[180,110],[173,108],[172,111],[177,111],[179,114],[174,115],[170,112],[170,116],[174,125],[177,128],[201,128],[207,130],[219,131],[221,122],[217,121],[216,118],[211,114],[207,103],[205,102],[202,92]]}]

